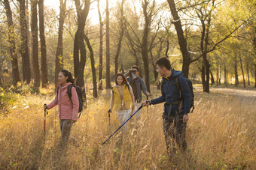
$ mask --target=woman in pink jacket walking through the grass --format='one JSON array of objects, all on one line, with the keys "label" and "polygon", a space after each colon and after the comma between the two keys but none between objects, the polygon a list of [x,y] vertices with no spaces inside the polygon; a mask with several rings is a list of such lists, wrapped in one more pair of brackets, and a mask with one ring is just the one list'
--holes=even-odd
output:
[{"label": "woman in pink jacket walking through the grass", "polygon": [[66,145],[69,141],[69,134],[72,128],[72,124],[78,120],[78,94],[75,87],[72,87],[72,100],[69,98],[68,87],[69,85],[75,85],[75,79],[72,74],[67,70],[59,72],[58,77],[58,92],[56,92],[55,99],[44,108],[52,109],[54,106],[59,106],[59,126],[62,137],[62,142]]}]

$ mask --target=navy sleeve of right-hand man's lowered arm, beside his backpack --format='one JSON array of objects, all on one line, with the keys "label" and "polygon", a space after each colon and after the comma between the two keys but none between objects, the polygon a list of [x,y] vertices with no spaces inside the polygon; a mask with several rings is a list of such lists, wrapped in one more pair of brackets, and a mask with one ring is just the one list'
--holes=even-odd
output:
[{"label": "navy sleeve of right-hand man's lowered arm, beside his backpack", "polygon": [[189,86],[187,84],[186,78],[184,76],[179,76],[178,78],[179,84],[181,86],[181,94],[184,97],[184,112],[190,112],[190,91]]}]

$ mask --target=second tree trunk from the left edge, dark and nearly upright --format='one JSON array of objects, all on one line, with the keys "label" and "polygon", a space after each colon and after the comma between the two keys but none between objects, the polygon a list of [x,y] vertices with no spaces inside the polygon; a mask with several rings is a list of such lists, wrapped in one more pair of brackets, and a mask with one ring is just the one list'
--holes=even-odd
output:
[{"label": "second tree trunk from the left edge, dark and nearly upright", "polygon": [[23,82],[29,84],[31,81],[31,69],[29,59],[29,44],[28,44],[28,26],[26,25],[26,6],[25,0],[20,2],[20,37],[21,37],[21,56],[23,64]]}]

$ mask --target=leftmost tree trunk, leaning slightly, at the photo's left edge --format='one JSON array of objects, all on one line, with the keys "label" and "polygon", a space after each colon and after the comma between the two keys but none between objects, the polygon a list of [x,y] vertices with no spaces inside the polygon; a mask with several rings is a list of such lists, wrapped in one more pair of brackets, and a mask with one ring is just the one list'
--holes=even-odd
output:
[{"label": "leftmost tree trunk, leaning slightly, at the photo's left edge", "polygon": [[9,39],[8,41],[10,43],[13,85],[17,85],[17,82],[20,82],[20,73],[19,73],[19,66],[18,66],[18,56],[17,56],[17,49],[15,44],[15,37],[14,37],[14,22],[12,19],[12,12],[11,12],[9,1],[5,0],[4,4],[5,4],[5,11],[6,11],[6,16],[8,20],[8,39]]}]

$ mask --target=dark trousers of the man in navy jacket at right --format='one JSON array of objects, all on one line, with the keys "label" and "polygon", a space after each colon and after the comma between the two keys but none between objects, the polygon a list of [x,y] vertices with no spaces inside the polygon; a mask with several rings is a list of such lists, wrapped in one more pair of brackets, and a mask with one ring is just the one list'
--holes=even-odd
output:
[{"label": "dark trousers of the man in navy jacket at right", "polygon": [[182,151],[187,149],[186,127],[187,123],[183,122],[183,115],[163,115],[163,133],[168,154],[175,154],[175,141]]}]

